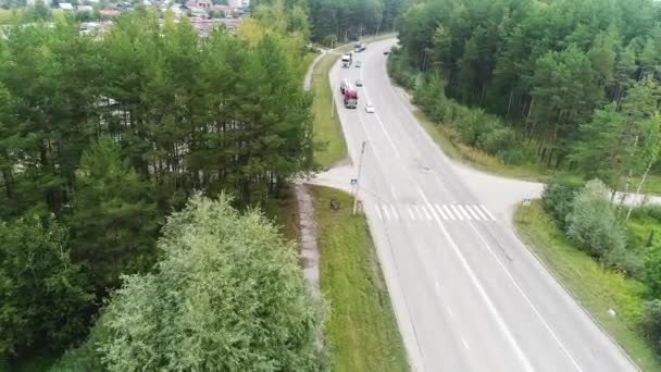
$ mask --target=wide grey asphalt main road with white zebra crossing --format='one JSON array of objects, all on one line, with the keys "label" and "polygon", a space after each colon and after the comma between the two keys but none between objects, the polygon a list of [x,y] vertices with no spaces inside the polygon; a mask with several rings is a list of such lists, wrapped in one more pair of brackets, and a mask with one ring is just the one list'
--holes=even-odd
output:
[{"label": "wide grey asphalt main road with white zebra crossing", "polygon": [[[329,76],[354,163],[367,142],[360,196],[412,368],[635,371],[490,207],[502,196],[473,194],[420,127],[386,75],[394,42]],[[364,83],[357,110],[341,106],[345,77]]]}]

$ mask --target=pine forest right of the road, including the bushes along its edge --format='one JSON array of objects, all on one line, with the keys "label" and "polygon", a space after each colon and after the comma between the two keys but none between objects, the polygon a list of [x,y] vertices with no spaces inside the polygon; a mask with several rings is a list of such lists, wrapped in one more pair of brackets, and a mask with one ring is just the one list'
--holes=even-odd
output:
[{"label": "pine forest right of the road, including the bushes along its edge", "polygon": [[423,1],[401,17],[390,71],[433,120],[461,123],[461,142],[633,188],[632,176],[659,171],[660,11],[652,0]]}]

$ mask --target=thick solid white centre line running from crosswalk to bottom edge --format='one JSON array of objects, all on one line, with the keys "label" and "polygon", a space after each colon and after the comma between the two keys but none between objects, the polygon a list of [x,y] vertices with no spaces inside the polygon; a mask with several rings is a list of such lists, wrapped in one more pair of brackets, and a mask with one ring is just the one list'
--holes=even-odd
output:
[{"label": "thick solid white centre line running from crosswalk to bottom edge", "polygon": [[[417,193],[420,193],[420,195],[422,196],[422,198],[425,201],[425,203],[431,204],[429,200],[427,199],[427,197],[425,196],[425,194],[423,193],[423,190],[420,189],[420,187],[417,188]],[[434,218],[436,220],[436,223],[440,226],[440,230],[441,230],[442,234],[445,235],[446,239],[450,243],[450,247],[452,247],[452,250],[454,251],[454,253],[459,258],[459,261],[461,262],[462,266],[465,269],[466,273],[469,274],[469,277],[471,278],[471,282],[473,282],[473,285],[477,289],[477,293],[479,294],[479,296],[482,297],[482,299],[487,305],[487,309],[489,310],[489,312],[491,313],[491,315],[496,319],[496,323],[498,323],[498,326],[504,333],[506,338],[508,339],[508,342],[510,343],[510,345],[514,348],[514,352],[516,354],[516,356],[521,360],[524,370],[533,372],[534,369],[533,369],[533,365],[531,364],[531,361],[524,355],[523,350],[521,349],[521,346],[519,346],[519,343],[514,338],[514,335],[512,335],[512,333],[510,332],[510,328],[508,328],[507,324],[504,323],[504,320],[502,319],[502,317],[498,312],[498,309],[496,309],[496,306],[494,305],[494,302],[491,301],[491,299],[487,295],[486,289],[479,283],[479,280],[475,275],[475,272],[473,272],[473,269],[471,269],[471,266],[469,265],[469,262],[463,257],[463,253],[461,252],[461,250],[457,246],[457,243],[454,243],[454,239],[452,239],[452,236],[450,236],[450,233],[448,233],[448,231],[446,230],[446,226],[442,224],[442,222],[440,222],[440,219],[438,218],[438,215],[436,215],[436,212],[434,212]]]}]

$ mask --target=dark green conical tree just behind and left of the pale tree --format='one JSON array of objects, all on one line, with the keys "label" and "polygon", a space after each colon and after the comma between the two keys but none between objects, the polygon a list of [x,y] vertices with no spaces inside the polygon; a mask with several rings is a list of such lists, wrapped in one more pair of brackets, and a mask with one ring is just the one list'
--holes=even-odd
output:
[{"label": "dark green conical tree just behind and left of the pale tree", "polygon": [[100,139],[85,151],[72,209],[72,253],[98,290],[151,266],[159,227],[153,191],[122,159],[119,145]]}]

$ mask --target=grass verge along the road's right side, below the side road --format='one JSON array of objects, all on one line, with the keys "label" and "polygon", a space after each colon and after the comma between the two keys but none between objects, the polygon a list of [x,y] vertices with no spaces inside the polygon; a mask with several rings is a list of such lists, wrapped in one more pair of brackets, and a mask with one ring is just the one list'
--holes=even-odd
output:
[{"label": "grass verge along the road's right side, below the side road", "polygon": [[[661,371],[661,361],[639,327],[644,284],[603,268],[572,246],[538,200],[519,207],[514,223],[528,247],[632,359],[644,371]],[[609,308],[615,318],[607,313]]]}]

